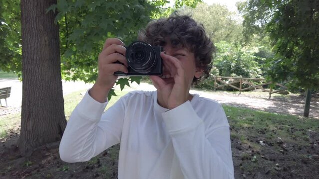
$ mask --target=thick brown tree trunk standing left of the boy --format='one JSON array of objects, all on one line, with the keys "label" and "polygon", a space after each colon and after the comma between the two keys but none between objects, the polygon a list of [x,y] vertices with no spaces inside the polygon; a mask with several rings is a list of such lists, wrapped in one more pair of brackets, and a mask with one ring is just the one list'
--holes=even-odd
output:
[{"label": "thick brown tree trunk standing left of the boy", "polygon": [[19,149],[30,156],[58,141],[66,126],[62,93],[59,27],[45,10],[56,0],[21,0],[22,107]]}]

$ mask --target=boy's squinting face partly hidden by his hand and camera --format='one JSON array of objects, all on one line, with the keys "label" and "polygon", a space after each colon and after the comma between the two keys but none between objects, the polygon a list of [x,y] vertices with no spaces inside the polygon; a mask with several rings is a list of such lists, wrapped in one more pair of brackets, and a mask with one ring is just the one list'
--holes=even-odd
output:
[{"label": "boy's squinting face partly hidden by his hand and camera", "polygon": [[[202,75],[203,70],[196,67],[195,56],[193,52],[190,52],[186,47],[173,48],[171,43],[169,43],[169,40],[167,42],[168,43],[163,46],[163,49],[166,55],[175,57],[181,62],[185,72],[185,80],[189,90],[194,77],[199,78]],[[164,63],[163,80],[166,83],[174,83],[173,76],[175,75],[175,73],[177,73],[175,68],[169,67]]]}]

